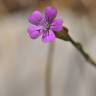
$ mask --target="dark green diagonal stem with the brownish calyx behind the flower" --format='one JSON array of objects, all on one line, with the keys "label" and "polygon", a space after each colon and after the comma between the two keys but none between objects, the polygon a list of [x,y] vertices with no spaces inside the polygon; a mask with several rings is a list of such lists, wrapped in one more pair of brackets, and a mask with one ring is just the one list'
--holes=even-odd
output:
[{"label": "dark green diagonal stem with the brownish calyx behind the flower", "polygon": [[62,39],[64,41],[69,41],[81,53],[81,55],[85,58],[85,60],[87,62],[96,66],[96,62],[90,57],[90,55],[88,53],[85,52],[82,45],[80,43],[74,41],[70,37],[70,35],[68,34],[68,29],[67,28],[64,27],[61,32],[55,33],[55,35],[59,39]]}]

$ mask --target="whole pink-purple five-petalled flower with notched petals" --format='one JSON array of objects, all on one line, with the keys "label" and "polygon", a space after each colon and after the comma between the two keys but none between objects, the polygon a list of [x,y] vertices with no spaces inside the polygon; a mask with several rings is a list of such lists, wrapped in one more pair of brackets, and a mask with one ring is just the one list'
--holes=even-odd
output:
[{"label": "whole pink-purple five-petalled flower with notched petals", "polygon": [[63,28],[63,21],[55,20],[57,10],[53,7],[45,8],[45,16],[42,16],[40,11],[34,11],[28,17],[29,22],[32,24],[28,28],[28,34],[32,39],[42,36],[44,43],[55,41],[56,37],[54,32],[60,32]]}]

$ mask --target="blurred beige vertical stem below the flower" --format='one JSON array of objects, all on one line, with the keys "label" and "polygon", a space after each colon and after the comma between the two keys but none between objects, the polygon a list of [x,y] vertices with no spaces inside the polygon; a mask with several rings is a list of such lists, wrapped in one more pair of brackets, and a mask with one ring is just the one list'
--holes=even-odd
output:
[{"label": "blurred beige vertical stem below the flower", "polygon": [[52,78],[52,63],[53,63],[53,55],[54,55],[54,43],[49,45],[48,59],[46,65],[46,96],[52,96],[52,87],[51,87],[51,78]]}]

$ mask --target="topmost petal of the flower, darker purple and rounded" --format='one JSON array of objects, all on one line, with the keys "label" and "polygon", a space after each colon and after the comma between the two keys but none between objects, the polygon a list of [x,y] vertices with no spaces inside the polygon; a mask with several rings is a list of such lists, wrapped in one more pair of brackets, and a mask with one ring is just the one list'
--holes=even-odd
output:
[{"label": "topmost petal of the flower, darker purple and rounded", "polygon": [[49,22],[52,22],[52,20],[56,17],[57,10],[53,7],[46,7],[45,9],[45,17]]}]

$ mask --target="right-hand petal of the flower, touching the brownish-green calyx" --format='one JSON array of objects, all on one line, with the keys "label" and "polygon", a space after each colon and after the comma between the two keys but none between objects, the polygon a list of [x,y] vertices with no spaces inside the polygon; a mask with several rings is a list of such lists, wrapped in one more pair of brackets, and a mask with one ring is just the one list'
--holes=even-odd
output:
[{"label": "right-hand petal of the flower, touching the brownish-green calyx", "polygon": [[55,31],[55,32],[59,32],[62,30],[63,28],[63,21],[58,19],[58,20],[54,20],[51,24],[51,30]]}]

